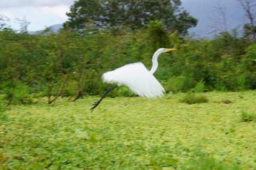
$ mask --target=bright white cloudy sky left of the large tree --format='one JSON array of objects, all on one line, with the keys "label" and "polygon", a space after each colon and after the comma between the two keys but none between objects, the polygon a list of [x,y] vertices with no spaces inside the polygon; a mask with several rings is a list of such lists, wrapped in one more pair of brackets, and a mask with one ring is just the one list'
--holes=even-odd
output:
[{"label": "bright white cloudy sky left of the large tree", "polygon": [[68,20],[66,12],[69,11],[73,0],[9,0],[0,1],[0,16],[10,19],[8,25],[13,29],[19,29],[16,18],[29,21],[29,31],[42,30],[54,24]]}]

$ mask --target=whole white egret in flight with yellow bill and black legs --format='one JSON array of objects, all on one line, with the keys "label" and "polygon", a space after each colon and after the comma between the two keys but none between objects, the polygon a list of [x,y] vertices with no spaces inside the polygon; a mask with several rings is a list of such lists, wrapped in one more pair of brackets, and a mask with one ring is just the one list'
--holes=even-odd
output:
[{"label": "whole white egret in flight with yellow bill and black legs", "polygon": [[175,48],[159,48],[153,55],[152,68],[149,71],[142,63],[126,64],[116,70],[106,72],[102,75],[103,82],[114,84],[106,90],[105,94],[93,104],[91,112],[96,108],[100,102],[107,96],[107,94],[117,88],[118,86],[126,86],[135,94],[141,97],[157,98],[164,95],[164,88],[159,81],[154,77],[154,73],[158,67],[157,58],[161,53],[176,50]]}]

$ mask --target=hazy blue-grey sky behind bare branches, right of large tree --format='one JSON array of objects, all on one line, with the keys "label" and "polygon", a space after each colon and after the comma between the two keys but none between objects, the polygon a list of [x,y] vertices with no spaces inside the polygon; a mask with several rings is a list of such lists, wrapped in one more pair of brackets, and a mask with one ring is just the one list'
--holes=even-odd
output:
[{"label": "hazy blue-grey sky behind bare branches, right of large tree", "polygon": [[233,29],[241,31],[242,25],[247,22],[244,11],[237,0],[181,0],[181,2],[190,15],[198,19],[197,26],[190,29],[190,32],[195,32],[196,35],[201,35],[201,37],[212,37],[209,32],[215,29],[213,27],[224,29],[224,26],[221,25],[222,16],[216,6],[226,7],[225,15],[228,31]]}]

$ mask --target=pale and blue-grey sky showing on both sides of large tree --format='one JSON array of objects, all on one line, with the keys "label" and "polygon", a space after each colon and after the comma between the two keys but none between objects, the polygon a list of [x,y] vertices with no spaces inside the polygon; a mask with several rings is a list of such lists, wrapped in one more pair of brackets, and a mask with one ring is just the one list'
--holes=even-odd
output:
[{"label": "pale and blue-grey sky showing on both sides of large tree", "polygon": [[[88,0],[89,1],[89,0]],[[233,29],[241,24],[242,10],[239,9],[237,0],[181,0],[182,7],[194,18],[198,25],[191,29],[196,33],[207,33],[211,31],[214,18],[214,5],[220,2],[227,7],[228,28]],[[67,21],[66,12],[74,3],[74,0],[0,0],[0,15],[7,16],[11,22],[11,28],[18,30],[16,18],[25,18],[30,22],[29,31],[43,30],[54,24]]]}]

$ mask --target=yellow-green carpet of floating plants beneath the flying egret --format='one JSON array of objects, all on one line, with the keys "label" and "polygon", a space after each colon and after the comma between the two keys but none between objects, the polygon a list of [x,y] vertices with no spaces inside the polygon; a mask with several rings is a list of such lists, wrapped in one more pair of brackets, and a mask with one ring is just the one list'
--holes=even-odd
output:
[{"label": "yellow-green carpet of floating plants beneath the flying egret", "polygon": [[[61,98],[11,105],[0,121],[0,169],[253,169],[256,91],[207,92],[208,103],[164,98]],[[243,96],[243,98],[239,97]],[[221,101],[232,98],[233,103]]]}]

